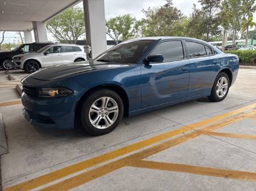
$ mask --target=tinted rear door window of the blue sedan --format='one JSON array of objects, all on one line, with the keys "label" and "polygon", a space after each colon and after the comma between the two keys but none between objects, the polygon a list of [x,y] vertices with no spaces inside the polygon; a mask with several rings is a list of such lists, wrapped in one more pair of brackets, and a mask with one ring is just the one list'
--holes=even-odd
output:
[{"label": "tinted rear door window of the blue sedan", "polygon": [[207,54],[203,44],[194,43],[191,41],[186,41],[186,44],[187,44],[187,48],[188,48],[188,57],[189,58],[205,56]]}]

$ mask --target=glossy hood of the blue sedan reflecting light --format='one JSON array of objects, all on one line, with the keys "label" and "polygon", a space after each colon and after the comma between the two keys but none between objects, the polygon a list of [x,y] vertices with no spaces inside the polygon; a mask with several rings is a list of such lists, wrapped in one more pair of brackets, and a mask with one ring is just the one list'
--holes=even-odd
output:
[{"label": "glossy hood of the blue sedan reflecting light", "polygon": [[70,63],[49,67],[48,69],[36,71],[29,77],[40,80],[63,79],[73,74],[84,73],[86,71],[109,69],[115,67],[129,66],[126,64],[118,64],[111,62],[85,61],[80,63]]}]

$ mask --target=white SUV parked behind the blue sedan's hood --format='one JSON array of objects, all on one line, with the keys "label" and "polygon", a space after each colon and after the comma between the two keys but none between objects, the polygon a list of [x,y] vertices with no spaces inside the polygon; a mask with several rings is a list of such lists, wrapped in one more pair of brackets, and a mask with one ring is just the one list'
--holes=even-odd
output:
[{"label": "white SUV parked behind the blue sedan's hood", "polygon": [[35,53],[19,54],[13,57],[14,67],[34,73],[42,67],[86,60],[84,47],[75,44],[52,44]]}]

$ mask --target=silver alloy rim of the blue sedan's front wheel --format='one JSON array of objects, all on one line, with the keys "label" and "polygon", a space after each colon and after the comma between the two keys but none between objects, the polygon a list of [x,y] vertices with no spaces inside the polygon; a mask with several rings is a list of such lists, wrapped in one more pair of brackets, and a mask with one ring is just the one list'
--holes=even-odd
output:
[{"label": "silver alloy rim of the blue sedan's front wheel", "polygon": [[97,129],[106,129],[114,124],[118,117],[118,104],[112,97],[100,97],[89,110],[90,123]]}]

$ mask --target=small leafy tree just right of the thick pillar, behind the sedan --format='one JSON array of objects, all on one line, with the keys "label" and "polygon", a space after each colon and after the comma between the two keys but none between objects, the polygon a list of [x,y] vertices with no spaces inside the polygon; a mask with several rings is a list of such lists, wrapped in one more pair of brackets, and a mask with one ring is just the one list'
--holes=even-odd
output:
[{"label": "small leafy tree just right of the thick pillar, behind the sedan", "polygon": [[137,21],[130,14],[116,16],[106,21],[106,33],[118,44],[119,40],[129,40],[142,31],[143,22]]}]

